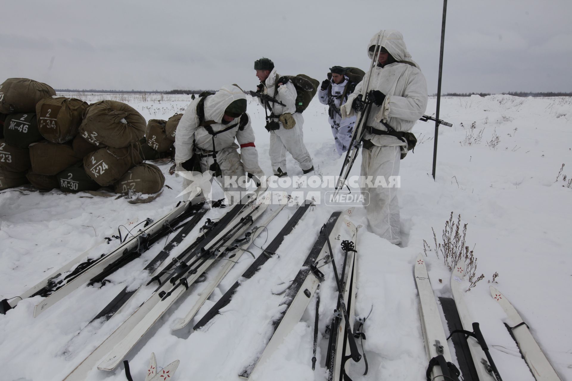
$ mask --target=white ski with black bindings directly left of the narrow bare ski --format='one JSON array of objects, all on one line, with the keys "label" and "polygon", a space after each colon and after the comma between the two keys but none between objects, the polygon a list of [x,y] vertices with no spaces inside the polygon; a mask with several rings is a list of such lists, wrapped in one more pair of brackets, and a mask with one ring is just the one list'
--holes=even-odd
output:
[{"label": "white ski with black bindings directly left of the narrow bare ski", "polygon": [[[239,216],[237,216],[237,218],[233,220],[233,222],[231,222],[227,228],[225,228],[225,230],[220,232],[220,234],[217,235],[215,239],[213,239],[209,244],[205,246],[205,250],[208,250],[210,247],[212,247],[213,243],[223,238],[231,229],[231,227],[235,225],[235,222],[240,221],[241,218],[250,214],[253,208],[256,208],[256,210],[252,212],[252,219],[256,220],[256,218],[258,218],[258,216],[264,212],[267,206],[267,203],[261,203],[257,208],[255,204],[251,204],[250,206],[245,207],[243,212],[241,212],[241,214],[239,214]],[[228,245],[229,243],[234,242],[234,240],[242,235],[247,229],[248,225],[241,228],[239,231],[225,240],[226,244]],[[190,275],[189,278],[187,278],[188,286],[190,287],[198,279],[198,277],[201,276],[201,274],[216,261],[216,259],[217,258],[206,259],[203,264],[198,266],[196,271]],[[179,285],[179,287],[175,287],[171,283],[167,282],[163,284],[161,291],[168,291],[170,292],[170,295],[166,299],[161,301],[157,300],[157,302],[154,303],[154,306],[149,310],[149,312],[145,314],[144,318],[141,319],[141,321],[138,322],[132,328],[132,330],[129,331],[129,333],[121,340],[121,342],[116,344],[116,346],[112,351],[109,352],[107,356],[105,356],[105,358],[97,367],[99,370],[112,371],[114,368],[116,368],[118,364],[121,363],[121,360],[123,360],[128,354],[131,348],[133,348],[139,342],[139,340],[145,335],[147,331],[149,331],[153,324],[156,323],[157,320],[160,319],[161,316],[169,309],[169,307],[172,306],[173,303],[176,302],[177,299],[186,291],[186,287],[181,285]],[[157,296],[161,291],[156,292]]]}]

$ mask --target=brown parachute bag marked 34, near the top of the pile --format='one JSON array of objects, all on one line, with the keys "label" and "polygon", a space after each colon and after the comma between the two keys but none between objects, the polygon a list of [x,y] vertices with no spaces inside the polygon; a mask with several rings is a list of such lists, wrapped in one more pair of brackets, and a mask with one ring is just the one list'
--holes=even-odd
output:
[{"label": "brown parachute bag marked 34, near the top of the pile", "polygon": [[88,103],[76,98],[44,98],[36,105],[38,130],[53,143],[65,143],[78,134]]}]

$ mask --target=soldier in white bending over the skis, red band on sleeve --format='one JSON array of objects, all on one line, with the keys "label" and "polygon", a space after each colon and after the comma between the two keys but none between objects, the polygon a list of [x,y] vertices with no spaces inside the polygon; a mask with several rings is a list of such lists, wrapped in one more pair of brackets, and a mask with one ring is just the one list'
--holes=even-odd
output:
[{"label": "soldier in white bending over the skis, red band on sleeve", "polygon": [[[240,190],[232,181],[245,173],[260,182],[264,172],[259,166],[254,131],[246,111],[246,96],[236,85],[224,86],[215,94],[201,93],[190,103],[177,126],[177,170],[210,170],[227,191]],[[191,183],[191,177],[184,176],[183,190]],[[240,181],[237,185],[241,186]]]}]

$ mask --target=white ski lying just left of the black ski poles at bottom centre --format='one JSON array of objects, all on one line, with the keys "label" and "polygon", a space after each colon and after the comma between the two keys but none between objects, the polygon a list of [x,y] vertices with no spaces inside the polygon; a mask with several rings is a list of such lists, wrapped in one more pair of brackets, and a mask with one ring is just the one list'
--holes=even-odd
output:
[{"label": "white ski lying just left of the black ski poles at bottom centre", "polygon": [[[348,210],[344,211],[339,214],[340,212],[334,212],[333,215],[337,215],[337,220],[334,226],[332,227],[331,233],[329,236],[337,237],[341,230],[341,227],[344,225],[342,216],[349,216],[353,212],[353,208],[349,208]],[[353,240],[352,236],[352,240]],[[318,238],[320,239],[320,237]],[[337,241],[335,241],[337,242]],[[312,250],[313,251],[313,250]],[[308,255],[308,259],[311,259],[312,251]],[[315,262],[317,258],[320,256],[325,256],[329,254],[328,243],[325,242],[321,244],[320,251],[316,251],[314,253],[315,258],[311,259],[311,262]],[[307,261],[308,261],[307,259]],[[306,264],[306,263],[304,263]],[[297,283],[301,282],[303,283]],[[284,338],[292,331],[292,328],[300,322],[304,311],[308,307],[310,300],[318,284],[320,283],[320,279],[308,268],[303,267],[290,288],[288,289],[284,299],[280,303],[280,305],[285,305],[287,308],[281,312],[281,316],[273,320],[269,324],[269,330],[273,331],[271,338],[267,343],[264,344],[264,349],[260,355],[254,356],[254,358],[249,362],[249,364],[244,367],[244,369],[240,372],[239,376],[244,379],[250,379],[253,372],[256,371],[259,364],[264,364],[268,358],[276,351],[276,348],[280,346],[280,344],[284,341]]]}]

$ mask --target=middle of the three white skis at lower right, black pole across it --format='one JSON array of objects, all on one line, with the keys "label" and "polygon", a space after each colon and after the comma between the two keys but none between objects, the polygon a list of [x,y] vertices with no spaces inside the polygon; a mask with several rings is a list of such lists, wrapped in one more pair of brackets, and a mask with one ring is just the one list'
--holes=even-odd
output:
[{"label": "middle of the three white skis at lower right, black pole across it", "polygon": [[[471,318],[467,304],[464,301],[464,291],[462,287],[463,277],[465,274],[464,264],[457,263],[451,273],[451,291],[453,299],[459,312],[463,330],[472,332],[472,323],[474,319]],[[475,370],[479,376],[479,381],[495,381],[496,378],[492,374],[491,366],[487,361],[487,356],[484,354],[479,342],[472,336],[467,338],[467,345],[471,351],[472,361],[475,363]]]}]

